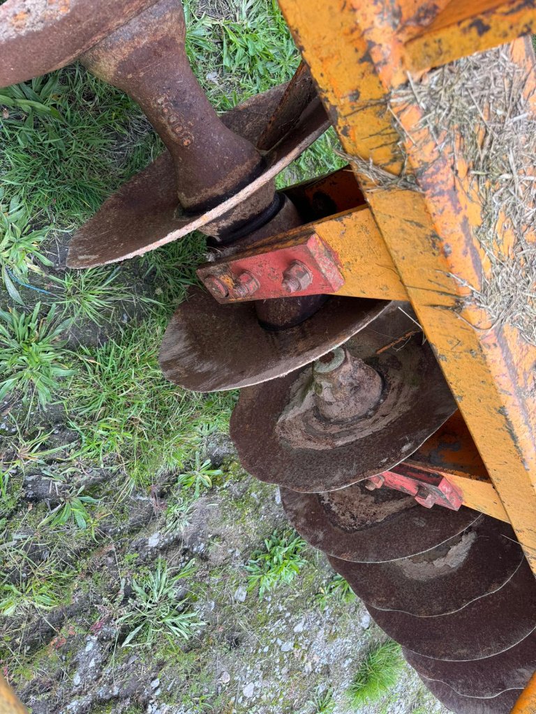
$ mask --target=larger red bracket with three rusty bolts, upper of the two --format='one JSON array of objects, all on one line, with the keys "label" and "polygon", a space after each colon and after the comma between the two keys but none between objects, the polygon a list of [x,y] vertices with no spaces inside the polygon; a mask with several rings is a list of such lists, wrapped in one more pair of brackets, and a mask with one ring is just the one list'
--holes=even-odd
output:
[{"label": "larger red bracket with three rusty bolts, upper of the two", "polygon": [[219,303],[322,295],[344,285],[337,254],[316,233],[263,250],[209,263],[197,275]]}]

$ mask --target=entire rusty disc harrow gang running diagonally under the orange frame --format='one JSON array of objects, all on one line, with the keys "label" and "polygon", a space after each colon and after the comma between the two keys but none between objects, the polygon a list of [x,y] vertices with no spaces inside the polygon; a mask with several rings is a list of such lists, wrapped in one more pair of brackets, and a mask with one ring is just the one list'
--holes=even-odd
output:
[{"label": "entire rusty disc harrow gang running diagonally under the orange frame", "polygon": [[[179,0],[0,7],[0,85],[79,59],[137,101],[166,146],[77,231],[73,268],[142,255],[194,230],[207,235],[210,267],[364,206],[339,172],[275,189],[279,171],[330,124],[306,64],[218,116],[184,39]],[[344,266],[333,252],[323,258],[337,282]],[[434,435],[450,438],[438,430],[462,417],[410,304],[324,294],[335,289],[293,296],[313,293],[311,270],[300,261],[281,276],[270,270],[281,296],[264,299],[247,269],[200,269],[209,291],[191,288],[174,313],[164,374],[195,391],[242,388],[231,434],[244,468],[280,486],[294,528],[327,554],[447,708],[510,713],[536,668],[535,580],[510,525],[460,508],[461,497],[432,498],[435,477],[418,476],[419,458],[432,462],[439,448]],[[447,508],[420,505],[435,502]]]}]

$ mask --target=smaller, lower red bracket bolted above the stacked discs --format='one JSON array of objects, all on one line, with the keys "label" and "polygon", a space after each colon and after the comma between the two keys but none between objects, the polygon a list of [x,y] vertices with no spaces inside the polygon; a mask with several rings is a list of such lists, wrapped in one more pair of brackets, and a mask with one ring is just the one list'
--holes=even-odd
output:
[{"label": "smaller, lower red bracket bolted above the stacked discs", "polygon": [[415,501],[425,508],[443,506],[443,508],[450,508],[451,511],[458,511],[462,506],[463,496],[460,489],[452,486],[445,476],[421,472],[405,463],[400,463],[395,468],[396,471],[384,471],[377,476],[367,478],[364,483],[365,488],[369,491],[382,486],[394,488],[395,491],[413,496]]}]

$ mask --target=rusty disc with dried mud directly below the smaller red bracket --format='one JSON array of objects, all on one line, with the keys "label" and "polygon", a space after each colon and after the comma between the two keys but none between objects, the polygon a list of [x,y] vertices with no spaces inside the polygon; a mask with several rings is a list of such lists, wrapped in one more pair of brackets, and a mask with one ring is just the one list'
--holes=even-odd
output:
[{"label": "rusty disc with dried mud directly below the smaller red bracket", "polygon": [[281,489],[287,518],[314,548],[356,563],[385,563],[425,553],[482,519],[460,511],[423,508],[405,493],[361,483],[327,493]]}]

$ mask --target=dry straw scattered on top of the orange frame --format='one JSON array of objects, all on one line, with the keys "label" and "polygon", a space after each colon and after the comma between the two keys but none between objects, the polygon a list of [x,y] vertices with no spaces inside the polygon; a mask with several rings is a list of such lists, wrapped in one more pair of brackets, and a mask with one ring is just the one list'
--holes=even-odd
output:
[{"label": "dry straw scattered on top of the orange frame", "polygon": [[[536,344],[536,119],[532,69],[512,61],[507,46],[443,66],[425,82],[410,79],[390,98],[394,114],[420,106],[423,126],[442,156],[464,156],[470,166],[468,195],[482,205],[475,231],[490,261],[470,301],[495,325],[517,327]],[[399,129],[399,125],[396,124]],[[405,137],[410,139],[410,137]],[[367,172],[365,172],[367,173]],[[467,183],[465,184],[467,187]],[[386,186],[388,187],[388,186]],[[512,231],[502,244],[499,227]]]}]

